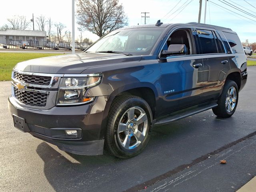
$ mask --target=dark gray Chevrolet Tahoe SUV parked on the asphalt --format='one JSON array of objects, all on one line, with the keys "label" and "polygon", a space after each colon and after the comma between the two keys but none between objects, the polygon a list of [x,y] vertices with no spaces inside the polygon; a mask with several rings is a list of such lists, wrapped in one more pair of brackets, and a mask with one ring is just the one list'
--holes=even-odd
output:
[{"label": "dark gray Chevrolet Tahoe SUV parked on the asphalt", "polygon": [[61,150],[98,155],[105,144],[129,158],[153,125],[208,109],[232,116],[246,69],[231,29],[158,21],[112,31],[81,54],[18,63],[8,107],[16,128]]}]

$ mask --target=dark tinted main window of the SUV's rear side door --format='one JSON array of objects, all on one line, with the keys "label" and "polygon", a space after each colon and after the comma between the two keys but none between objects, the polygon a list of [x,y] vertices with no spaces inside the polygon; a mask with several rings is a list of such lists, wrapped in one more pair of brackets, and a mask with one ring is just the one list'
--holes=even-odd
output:
[{"label": "dark tinted main window of the SUV's rear side door", "polygon": [[198,29],[197,33],[202,47],[202,54],[218,53],[212,31]]}]

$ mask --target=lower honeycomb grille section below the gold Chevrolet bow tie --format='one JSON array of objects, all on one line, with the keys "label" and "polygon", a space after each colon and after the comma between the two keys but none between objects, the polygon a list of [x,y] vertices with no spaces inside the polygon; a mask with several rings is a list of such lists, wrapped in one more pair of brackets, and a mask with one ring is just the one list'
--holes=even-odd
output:
[{"label": "lower honeycomb grille section below the gold Chevrolet bow tie", "polygon": [[36,92],[20,92],[14,87],[15,97],[25,105],[45,107],[47,101],[47,94]]}]

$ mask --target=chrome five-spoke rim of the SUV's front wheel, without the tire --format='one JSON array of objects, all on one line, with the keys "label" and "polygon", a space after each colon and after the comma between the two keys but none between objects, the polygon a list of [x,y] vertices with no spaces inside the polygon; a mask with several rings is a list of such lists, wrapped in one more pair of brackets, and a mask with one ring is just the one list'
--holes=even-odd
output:
[{"label": "chrome five-spoke rim of the SUV's front wheel, without the tire", "polygon": [[144,140],[148,128],[146,112],[138,107],[129,108],[120,118],[117,128],[119,144],[125,149],[134,149]]}]

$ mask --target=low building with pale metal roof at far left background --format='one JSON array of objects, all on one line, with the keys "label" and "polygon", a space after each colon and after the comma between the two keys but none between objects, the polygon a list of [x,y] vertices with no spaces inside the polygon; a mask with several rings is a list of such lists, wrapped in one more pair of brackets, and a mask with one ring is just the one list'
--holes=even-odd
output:
[{"label": "low building with pale metal roof at far left background", "polygon": [[[38,41],[40,46],[44,45],[46,41],[45,31],[33,31],[33,30],[11,30],[0,31],[0,43],[12,44],[13,41],[24,42],[25,44],[30,41]],[[22,43],[22,44],[24,44]]]}]

